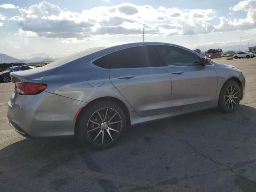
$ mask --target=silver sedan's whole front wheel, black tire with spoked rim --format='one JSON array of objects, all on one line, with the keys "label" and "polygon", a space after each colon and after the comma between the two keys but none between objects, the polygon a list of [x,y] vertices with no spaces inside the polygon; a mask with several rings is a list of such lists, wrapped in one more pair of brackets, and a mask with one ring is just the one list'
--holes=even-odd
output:
[{"label": "silver sedan's whole front wheel, black tire with spoked rim", "polygon": [[226,82],[220,91],[218,108],[225,113],[234,112],[240,103],[241,91],[240,86],[234,80]]}]

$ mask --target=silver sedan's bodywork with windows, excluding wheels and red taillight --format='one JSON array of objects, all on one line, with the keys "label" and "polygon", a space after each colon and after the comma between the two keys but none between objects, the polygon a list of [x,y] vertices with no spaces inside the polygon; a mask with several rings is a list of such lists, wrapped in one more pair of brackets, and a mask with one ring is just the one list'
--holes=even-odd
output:
[{"label": "silver sedan's bodywork with windows, excluding wheels and red taillight", "polygon": [[[32,138],[74,136],[81,113],[98,104],[118,105],[115,111],[123,111],[126,124],[135,125],[216,108],[228,80],[239,84],[241,100],[245,88],[238,68],[158,42],[91,48],[41,68],[12,72],[11,77],[19,91],[23,89],[20,82],[43,86],[34,95],[14,90],[8,102],[12,128]],[[106,128],[106,124],[100,126]]]}]

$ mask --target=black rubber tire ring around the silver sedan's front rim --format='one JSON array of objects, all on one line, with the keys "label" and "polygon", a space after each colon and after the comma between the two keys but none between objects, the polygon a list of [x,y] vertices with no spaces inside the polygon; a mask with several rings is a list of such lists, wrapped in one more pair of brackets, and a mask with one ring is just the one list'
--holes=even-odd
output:
[{"label": "black rubber tire ring around the silver sedan's front rim", "polygon": [[[227,90],[227,88],[230,85],[235,85],[238,89],[239,89],[239,100],[238,100],[238,104],[233,108],[233,109],[229,109],[227,108],[225,101],[224,101],[224,95],[225,92]],[[220,91],[220,96],[219,96],[219,102],[218,102],[218,108],[222,111],[222,112],[226,112],[226,113],[230,113],[230,112],[234,112],[236,110],[236,108],[238,107],[239,103],[240,103],[240,99],[241,99],[241,88],[238,85],[237,82],[235,82],[234,80],[230,80],[228,82],[226,82],[223,86],[222,89]]]}]

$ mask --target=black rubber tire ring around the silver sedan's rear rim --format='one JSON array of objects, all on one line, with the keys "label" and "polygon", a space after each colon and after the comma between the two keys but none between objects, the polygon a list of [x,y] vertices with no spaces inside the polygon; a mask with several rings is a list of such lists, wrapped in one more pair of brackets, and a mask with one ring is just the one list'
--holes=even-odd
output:
[{"label": "black rubber tire ring around the silver sedan's rear rim", "polygon": [[[116,112],[119,113],[121,120],[122,120],[122,127],[121,127],[118,137],[113,142],[111,142],[109,144],[104,144],[104,145],[94,143],[89,138],[88,132],[87,132],[87,124],[88,124],[90,117],[92,116],[92,114],[94,112],[96,112],[97,110],[99,110],[101,108],[112,108],[112,109],[116,110]],[[86,108],[85,110],[83,110],[81,112],[81,114],[78,117],[76,134],[78,134],[77,137],[80,139],[80,141],[84,145],[90,144],[93,147],[96,147],[99,149],[105,149],[105,148],[108,148],[108,147],[116,144],[116,142],[118,142],[118,140],[120,140],[120,138],[124,135],[125,131],[126,131],[126,117],[125,117],[124,111],[122,110],[122,108],[120,108],[120,106],[118,106],[118,104],[115,104],[114,102],[111,102],[111,101],[106,101],[106,102],[94,103],[94,104],[92,104],[92,106],[90,106],[89,108]]]}]

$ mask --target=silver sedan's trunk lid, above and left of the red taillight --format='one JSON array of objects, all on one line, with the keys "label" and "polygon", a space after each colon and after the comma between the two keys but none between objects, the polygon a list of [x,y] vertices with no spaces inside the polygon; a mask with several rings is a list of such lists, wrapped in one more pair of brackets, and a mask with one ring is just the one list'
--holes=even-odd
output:
[{"label": "silver sedan's trunk lid, above and left of the red taillight", "polygon": [[[34,68],[30,70],[25,71],[17,71],[17,72],[11,72],[10,76],[13,83],[16,82],[28,82],[29,80],[40,78],[44,76],[48,76],[52,74],[57,69],[57,66],[54,67],[40,67],[40,68]],[[12,96],[10,98],[10,102],[12,105],[16,102],[18,99],[19,94],[14,90],[12,93]]]}]

